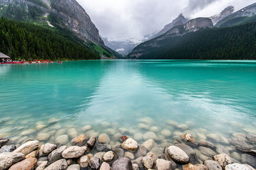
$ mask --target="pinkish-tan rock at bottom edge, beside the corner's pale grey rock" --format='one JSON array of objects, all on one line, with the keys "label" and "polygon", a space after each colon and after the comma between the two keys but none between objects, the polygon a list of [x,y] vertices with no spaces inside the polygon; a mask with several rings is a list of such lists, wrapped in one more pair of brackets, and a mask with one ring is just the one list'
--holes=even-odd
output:
[{"label": "pinkish-tan rock at bottom edge, beside the corner's pale grey rock", "polygon": [[36,158],[28,158],[14,164],[13,166],[10,167],[9,170],[17,170],[17,169],[33,170],[36,167],[36,162],[37,162]]}]

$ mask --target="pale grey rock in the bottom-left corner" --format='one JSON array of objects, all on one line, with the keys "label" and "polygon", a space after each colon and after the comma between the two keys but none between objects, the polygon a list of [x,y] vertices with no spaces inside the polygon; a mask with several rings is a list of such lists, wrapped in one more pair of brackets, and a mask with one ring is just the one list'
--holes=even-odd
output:
[{"label": "pale grey rock in the bottom-left corner", "polygon": [[23,153],[4,152],[0,154],[0,169],[8,169],[8,167],[23,160],[25,155]]}]

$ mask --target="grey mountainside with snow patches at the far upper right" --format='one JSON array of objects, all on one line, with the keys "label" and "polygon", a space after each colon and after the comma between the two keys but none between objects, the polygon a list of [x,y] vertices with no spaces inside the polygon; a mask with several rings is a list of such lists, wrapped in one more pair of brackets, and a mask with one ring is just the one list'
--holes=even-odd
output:
[{"label": "grey mountainside with snow patches at the far upper right", "polygon": [[230,27],[232,25],[244,24],[246,23],[246,20],[252,20],[255,13],[256,3],[251,4],[250,6],[246,6],[245,8],[228,15],[227,17],[220,20],[216,24],[216,27]]}]

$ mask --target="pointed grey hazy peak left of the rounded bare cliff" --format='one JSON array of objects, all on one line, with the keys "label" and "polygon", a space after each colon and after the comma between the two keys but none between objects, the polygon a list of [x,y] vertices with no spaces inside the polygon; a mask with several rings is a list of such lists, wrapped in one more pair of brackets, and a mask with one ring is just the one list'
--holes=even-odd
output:
[{"label": "pointed grey hazy peak left of the rounded bare cliff", "polygon": [[157,34],[155,34],[152,38],[156,38],[157,36],[161,36],[164,33],[166,33],[167,31],[169,31],[170,29],[172,29],[173,27],[186,24],[186,22],[188,22],[188,21],[189,20],[187,18],[185,18],[181,13],[179,15],[179,17],[175,18],[170,24],[165,25],[164,28],[161,31],[157,32]]}]

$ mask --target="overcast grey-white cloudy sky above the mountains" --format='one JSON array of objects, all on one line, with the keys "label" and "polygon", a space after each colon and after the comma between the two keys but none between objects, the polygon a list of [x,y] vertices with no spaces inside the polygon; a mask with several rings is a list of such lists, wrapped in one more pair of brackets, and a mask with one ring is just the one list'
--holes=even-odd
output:
[{"label": "overcast grey-white cloudy sky above the mountains", "polygon": [[186,18],[211,17],[227,6],[235,10],[255,0],[77,0],[100,35],[109,39],[141,39],[160,31],[180,13]]}]

